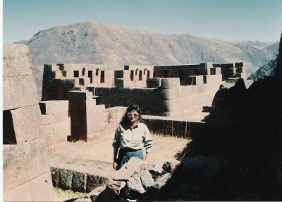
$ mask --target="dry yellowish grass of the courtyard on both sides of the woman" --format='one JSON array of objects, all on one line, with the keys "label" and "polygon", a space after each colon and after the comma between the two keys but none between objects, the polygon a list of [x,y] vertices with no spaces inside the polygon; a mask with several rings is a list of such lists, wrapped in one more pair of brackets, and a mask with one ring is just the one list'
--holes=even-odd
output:
[{"label": "dry yellowish grass of the courtyard on both sides of the woman", "polygon": [[[185,148],[187,139],[159,136],[152,134],[153,148],[149,153],[148,162],[162,163],[175,158],[176,153]],[[65,146],[56,149],[56,153],[70,158],[101,160],[112,162],[113,148],[111,143],[114,137],[104,136],[97,140],[68,142]],[[71,151],[71,152],[70,152]]]}]

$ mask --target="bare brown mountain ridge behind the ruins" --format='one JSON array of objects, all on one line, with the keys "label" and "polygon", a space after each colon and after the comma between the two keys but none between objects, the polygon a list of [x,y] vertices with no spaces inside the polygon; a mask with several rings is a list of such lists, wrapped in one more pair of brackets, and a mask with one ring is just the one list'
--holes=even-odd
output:
[{"label": "bare brown mountain ridge behind the ruins", "polygon": [[[95,21],[41,30],[25,43],[30,49],[38,85],[43,65],[48,63],[110,64],[111,69],[119,69],[124,64],[244,61],[250,74],[278,52],[278,43],[226,42],[189,34],[159,35]],[[274,47],[270,48],[271,45]]]}]

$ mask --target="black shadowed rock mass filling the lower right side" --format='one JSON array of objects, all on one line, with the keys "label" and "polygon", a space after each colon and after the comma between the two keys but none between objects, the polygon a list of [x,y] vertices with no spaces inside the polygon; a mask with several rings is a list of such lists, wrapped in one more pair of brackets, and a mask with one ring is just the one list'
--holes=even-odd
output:
[{"label": "black shadowed rock mass filling the lower right side", "polygon": [[281,201],[281,81],[276,71],[223,86],[204,119],[214,129],[192,136],[159,200]]}]

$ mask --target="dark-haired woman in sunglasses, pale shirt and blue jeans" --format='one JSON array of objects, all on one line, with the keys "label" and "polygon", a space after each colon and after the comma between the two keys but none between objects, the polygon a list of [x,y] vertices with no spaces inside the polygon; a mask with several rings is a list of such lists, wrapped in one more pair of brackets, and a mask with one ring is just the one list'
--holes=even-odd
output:
[{"label": "dark-haired woman in sunglasses, pale shirt and blue jeans", "polygon": [[[146,149],[145,158],[143,146]],[[141,109],[138,105],[129,105],[126,109],[116,129],[113,147],[115,170],[119,170],[133,156],[142,160],[147,159],[152,148],[152,136],[148,127],[141,122]]]}]

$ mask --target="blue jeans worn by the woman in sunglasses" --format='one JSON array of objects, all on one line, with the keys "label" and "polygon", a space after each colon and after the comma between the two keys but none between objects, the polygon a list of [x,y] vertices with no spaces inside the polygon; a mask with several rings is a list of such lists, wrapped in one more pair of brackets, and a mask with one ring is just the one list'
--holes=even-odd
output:
[{"label": "blue jeans worn by the woman in sunglasses", "polygon": [[121,169],[121,167],[130,160],[132,157],[140,158],[141,160],[144,160],[144,154],[142,149],[140,150],[125,150],[120,148],[118,152],[118,170]]}]

